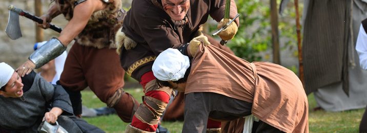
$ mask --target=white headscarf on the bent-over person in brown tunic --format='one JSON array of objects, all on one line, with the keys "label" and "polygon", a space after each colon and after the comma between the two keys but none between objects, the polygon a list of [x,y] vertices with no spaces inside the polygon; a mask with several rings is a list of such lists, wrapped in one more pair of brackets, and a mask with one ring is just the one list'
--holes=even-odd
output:
[{"label": "white headscarf on the bent-over person in brown tunic", "polygon": [[188,56],[182,55],[177,49],[169,48],[155,59],[152,71],[154,76],[161,81],[177,81],[184,78],[189,66]]}]

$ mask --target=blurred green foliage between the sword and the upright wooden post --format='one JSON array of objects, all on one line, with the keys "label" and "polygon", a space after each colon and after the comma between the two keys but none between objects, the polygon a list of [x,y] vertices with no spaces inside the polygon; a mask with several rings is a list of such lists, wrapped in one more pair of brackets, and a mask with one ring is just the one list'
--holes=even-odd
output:
[{"label": "blurred green foliage between the sword and the upright wooden post", "polygon": [[258,53],[271,46],[270,9],[265,1],[238,0],[240,27],[228,46],[240,58],[262,60]]}]

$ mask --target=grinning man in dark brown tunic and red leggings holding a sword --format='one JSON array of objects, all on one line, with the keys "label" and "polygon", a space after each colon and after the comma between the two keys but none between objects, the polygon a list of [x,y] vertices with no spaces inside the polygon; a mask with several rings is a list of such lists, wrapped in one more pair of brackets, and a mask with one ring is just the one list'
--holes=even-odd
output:
[{"label": "grinning man in dark brown tunic and red leggings holding a sword", "polygon": [[[230,18],[237,14],[237,8],[231,0]],[[157,128],[162,112],[170,99],[172,89],[158,87],[152,72],[156,56],[168,49],[177,48],[187,54],[193,46],[188,45],[198,36],[199,26],[206,23],[209,15],[216,21],[224,16],[224,0],[138,0],[132,1],[131,9],[124,19],[122,32],[117,33],[117,42],[121,49],[121,66],[127,74],[140,82],[144,88],[144,102],[136,110],[131,125],[126,132],[153,132]],[[239,21],[229,29],[231,34],[219,34],[221,37],[233,37]],[[200,41],[208,41],[200,37]],[[226,39],[228,40],[228,39]],[[209,42],[208,42],[209,43]],[[213,126],[220,127],[219,122]],[[210,124],[212,125],[212,124]]]}]

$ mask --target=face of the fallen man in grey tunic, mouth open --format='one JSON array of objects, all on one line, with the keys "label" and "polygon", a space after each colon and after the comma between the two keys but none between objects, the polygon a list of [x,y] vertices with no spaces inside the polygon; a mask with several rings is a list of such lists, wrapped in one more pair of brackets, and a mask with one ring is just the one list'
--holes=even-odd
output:
[{"label": "face of the fallen man in grey tunic, mouth open", "polygon": [[5,85],[5,91],[0,91],[0,95],[12,98],[22,97],[23,86],[21,76],[14,72],[8,83]]}]

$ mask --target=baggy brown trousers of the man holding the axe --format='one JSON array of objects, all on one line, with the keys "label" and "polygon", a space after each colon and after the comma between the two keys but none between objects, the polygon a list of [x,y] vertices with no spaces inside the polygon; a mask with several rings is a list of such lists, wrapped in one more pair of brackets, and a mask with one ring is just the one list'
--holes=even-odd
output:
[{"label": "baggy brown trousers of the man holding the axe", "polygon": [[[67,91],[81,91],[87,86],[102,101],[107,100],[124,86],[125,71],[115,49],[81,46],[74,43],[66,58],[60,84]],[[114,106],[118,116],[130,122],[134,104],[138,102],[128,93],[124,93]],[[78,114],[75,114],[78,115]]]}]

